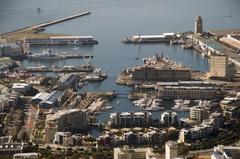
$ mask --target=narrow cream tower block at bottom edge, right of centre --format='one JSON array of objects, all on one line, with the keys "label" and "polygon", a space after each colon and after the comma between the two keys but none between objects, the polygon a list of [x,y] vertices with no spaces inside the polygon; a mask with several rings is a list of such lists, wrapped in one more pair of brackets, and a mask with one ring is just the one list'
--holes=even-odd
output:
[{"label": "narrow cream tower block at bottom edge, right of centre", "polygon": [[168,141],[165,143],[165,159],[178,157],[177,142]]}]

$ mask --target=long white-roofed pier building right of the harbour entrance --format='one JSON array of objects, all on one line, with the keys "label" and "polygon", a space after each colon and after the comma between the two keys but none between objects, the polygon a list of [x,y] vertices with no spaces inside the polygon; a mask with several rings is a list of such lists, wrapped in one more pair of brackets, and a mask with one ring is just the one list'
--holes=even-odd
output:
[{"label": "long white-roofed pier building right of the harbour entrance", "polygon": [[123,39],[124,43],[159,43],[170,42],[175,38],[175,33],[163,33],[160,35],[133,35]]}]

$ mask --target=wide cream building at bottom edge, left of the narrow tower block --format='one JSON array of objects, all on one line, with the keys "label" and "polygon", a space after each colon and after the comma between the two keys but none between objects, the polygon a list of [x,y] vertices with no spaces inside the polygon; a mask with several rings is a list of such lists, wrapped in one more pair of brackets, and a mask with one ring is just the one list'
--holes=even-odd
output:
[{"label": "wide cream building at bottom edge, left of the narrow tower block", "polygon": [[160,155],[150,148],[130,149],[128,146],[114,148],[114,159],[160,159]]}]

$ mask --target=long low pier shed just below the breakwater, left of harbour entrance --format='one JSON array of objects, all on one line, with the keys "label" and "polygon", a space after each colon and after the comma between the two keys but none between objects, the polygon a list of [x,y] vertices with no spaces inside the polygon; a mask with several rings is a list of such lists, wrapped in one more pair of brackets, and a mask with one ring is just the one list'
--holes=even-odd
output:
[{"label": "long low pier shed just below the breakwater, left of harbour entrance", "polygon": [[81,45],[97,44],[92,36],[52,36],[48,38],[24,38],[23,43],[29,45]]}]

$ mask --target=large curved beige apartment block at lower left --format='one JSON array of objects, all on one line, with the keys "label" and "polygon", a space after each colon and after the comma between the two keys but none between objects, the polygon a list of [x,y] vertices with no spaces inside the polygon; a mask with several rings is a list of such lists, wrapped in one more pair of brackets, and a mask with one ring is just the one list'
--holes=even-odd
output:
[{"label": "large curved beige apartment block at lower left", "polygon": [[57,131],[80,132],[88,127],[88,114],[85,110],[60,110],[47,116],[45,126],[45,142],[52,143]]}]

